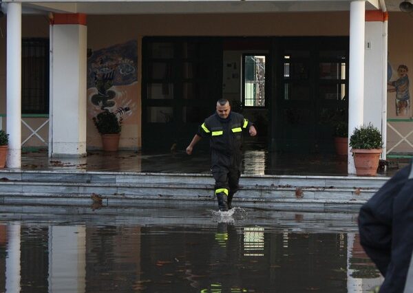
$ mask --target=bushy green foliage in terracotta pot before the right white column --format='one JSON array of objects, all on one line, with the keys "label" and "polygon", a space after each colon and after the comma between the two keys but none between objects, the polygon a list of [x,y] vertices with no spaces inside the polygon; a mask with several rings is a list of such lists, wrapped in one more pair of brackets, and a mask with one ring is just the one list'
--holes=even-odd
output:
[{"label": "bushy green foliage in terracotta pot before the right white column", "polygon": [[354,129],[350,136],[350,146],[353,149],[381,149],[383,139],[379,129],[369,123],[368,126]]}]

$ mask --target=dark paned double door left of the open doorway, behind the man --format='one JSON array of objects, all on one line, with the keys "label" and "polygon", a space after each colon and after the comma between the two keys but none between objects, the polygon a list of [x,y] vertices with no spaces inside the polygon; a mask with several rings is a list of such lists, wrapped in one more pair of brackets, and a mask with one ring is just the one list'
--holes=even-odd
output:
[{"label": "dark paned double door left of the open doorway, behind the man", "polygon": [[[147,37],[142,58],[142,148],[184,149],[222,96],[222,39]],[[205,143],[200,143],[202,147]]]}]

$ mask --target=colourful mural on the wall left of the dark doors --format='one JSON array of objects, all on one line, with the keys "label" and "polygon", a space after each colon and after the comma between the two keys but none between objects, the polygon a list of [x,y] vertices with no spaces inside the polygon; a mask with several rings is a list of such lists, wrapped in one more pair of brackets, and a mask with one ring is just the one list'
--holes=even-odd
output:
[{"label": "colourful mural on the wall left of the dark doors", "polygon": [[128,122],[137,109],[137,60],[136,41],[96,50],[87,58],[89,118],[110,111]]}]

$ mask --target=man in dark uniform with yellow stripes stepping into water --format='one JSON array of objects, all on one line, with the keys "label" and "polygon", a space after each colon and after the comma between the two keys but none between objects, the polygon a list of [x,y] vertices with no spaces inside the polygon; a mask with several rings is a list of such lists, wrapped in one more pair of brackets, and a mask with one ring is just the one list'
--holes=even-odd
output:
[{"label": "man in dark uniform with yellow stripes stepping into water", "polygon": [[234,193],[238,190],[241,175],[242,133],[257,135],[253,123],[240,113],[231,112],[229,101],[220,99],[216,113],[205,119],[187,147],[191,155],[193,146],[202,138],[210,138],[211,171],[215,179],[215,195],[220,210],[231,208]]}]

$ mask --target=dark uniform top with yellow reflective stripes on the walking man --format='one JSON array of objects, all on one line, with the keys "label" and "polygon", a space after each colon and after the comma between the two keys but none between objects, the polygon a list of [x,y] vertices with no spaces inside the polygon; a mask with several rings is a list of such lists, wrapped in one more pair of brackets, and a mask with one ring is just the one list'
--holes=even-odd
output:
[{"label": "dark uniform top with yellow reflective stripes on the walking man", "polygon": [[240,168],[242,157],[242,133],[253,123],[240,113],[231,111],[228,118],[222,119],[214,113],[200,125],[197,134],[210,138],[211,164]]}]

